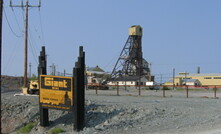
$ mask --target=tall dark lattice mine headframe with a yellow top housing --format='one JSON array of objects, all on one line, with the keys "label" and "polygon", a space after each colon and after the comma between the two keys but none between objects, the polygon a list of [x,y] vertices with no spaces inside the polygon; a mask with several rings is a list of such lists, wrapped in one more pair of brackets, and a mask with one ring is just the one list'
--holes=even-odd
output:
[{"label": "tall dark lattice mine headframe with a yellow top housing", "polygon": [[129,37],[111,73],[111,78],[143,75],[142,27],[129,28]]}]

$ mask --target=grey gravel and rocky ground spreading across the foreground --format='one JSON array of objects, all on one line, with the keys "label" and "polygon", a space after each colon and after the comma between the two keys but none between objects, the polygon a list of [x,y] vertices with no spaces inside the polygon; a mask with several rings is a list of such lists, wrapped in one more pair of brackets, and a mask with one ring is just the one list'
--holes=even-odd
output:
[{"label": "grey gravel and rocky ground spreading across the foreground", "polygon": [[[29,122],[39,122],[38,96],[13,96],[18,91],[2,94],[2,130],[16,133]],[[85,128],[78,134],[221,134],[221,99],[212,92],[195,92],[185,97],[183,91],[144,91],[137,96],[136,89],[86,91]],[[221,93],[217,93],[221,97]],[[49,133],[62,128],[73,131],[73,116],[69,112],[49,110],[50,127],[39,123],[30,133]]]}]

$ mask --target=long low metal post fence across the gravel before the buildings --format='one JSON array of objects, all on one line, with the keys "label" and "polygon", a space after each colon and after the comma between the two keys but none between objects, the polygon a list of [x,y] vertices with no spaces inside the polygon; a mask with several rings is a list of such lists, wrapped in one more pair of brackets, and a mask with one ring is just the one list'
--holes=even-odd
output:
[{"label": "long low metal post fence across the gravel before the buildings", "polygon": [[109,86],[102,90],[102,85],[95,89],[87,88],[87,94],[107,96],[151,96],[183,98],[216,98],[221,97],[221,86]]}]

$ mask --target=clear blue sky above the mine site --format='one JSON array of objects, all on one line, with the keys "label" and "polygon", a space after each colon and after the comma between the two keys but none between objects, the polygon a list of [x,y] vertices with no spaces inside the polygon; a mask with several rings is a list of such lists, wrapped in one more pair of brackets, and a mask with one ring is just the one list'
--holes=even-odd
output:
[{"label": "clear blue sky above the mine site", "polygon": [[[37,0],[29,0],[38,4]],[[13,4],[20,4],[12,0]],[[46,46],[48,66],[71,73],[84,46],[86,65],[112,71],[132,25],[143,27],[143,57],[159,78],[178,72],[221,73],[220,0],[42,0],[40,11],[29,11],[29,62]],[[14,11],[13,11],[14,10]],[[23,75],[23,13],[4,2],[3,74]],[[48,67],[48,72],[50,68]]]}]

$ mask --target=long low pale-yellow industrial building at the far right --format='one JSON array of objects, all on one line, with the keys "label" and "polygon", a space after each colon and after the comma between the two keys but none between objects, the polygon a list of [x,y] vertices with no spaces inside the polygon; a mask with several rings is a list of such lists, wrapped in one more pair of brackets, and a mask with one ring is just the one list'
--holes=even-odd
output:
[{"label": "long low pale-yellow industrial building at the far right", "polygon": [[221,73],[208,73],[208,74],[188,74],[178,75],[168,82],[165,86],[221,86]]}]

